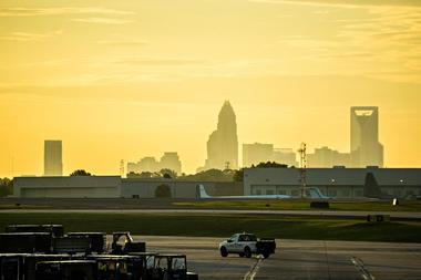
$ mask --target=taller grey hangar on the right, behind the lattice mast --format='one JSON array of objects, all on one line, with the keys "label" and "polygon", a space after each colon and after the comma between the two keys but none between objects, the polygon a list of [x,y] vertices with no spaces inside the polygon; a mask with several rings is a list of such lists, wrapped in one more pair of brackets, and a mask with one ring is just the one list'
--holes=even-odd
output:
[{"label": "taller grey hangar on the right, behind the lattice mast", "polygon": [[[421,168],[306,168],[308,187],[340,199],[363,198],[366,176],[371,173],[382,194],[397,198],[421,196]],[[246,168],[244,195],[290,195],[298,197],[300,168]]]}]

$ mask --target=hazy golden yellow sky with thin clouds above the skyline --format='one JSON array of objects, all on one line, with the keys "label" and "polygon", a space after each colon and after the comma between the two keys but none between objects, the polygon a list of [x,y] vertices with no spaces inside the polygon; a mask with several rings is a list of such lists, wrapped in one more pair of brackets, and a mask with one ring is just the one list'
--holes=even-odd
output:
[{"label": "hazy golden yellow sky with thin clouds above the skyline", "polygon": [[204,164],[229,100],[239,143],[349,151],[349,107],[380,107],[389,167],[421,165],[421,1],[2,0],[0,177],[178,152]]}]

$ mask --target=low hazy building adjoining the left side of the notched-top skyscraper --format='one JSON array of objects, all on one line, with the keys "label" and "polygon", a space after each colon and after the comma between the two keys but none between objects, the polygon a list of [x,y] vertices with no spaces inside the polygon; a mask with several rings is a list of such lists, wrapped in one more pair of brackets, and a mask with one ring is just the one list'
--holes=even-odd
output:
[{"label": "low hazy building adjoining the left side of the notched-top skyscraper", "polygon": [[331,168],[335,166],[351,166],[351,155],[329,147],[315,148],[314,154],[307,155],[307,167]]}]

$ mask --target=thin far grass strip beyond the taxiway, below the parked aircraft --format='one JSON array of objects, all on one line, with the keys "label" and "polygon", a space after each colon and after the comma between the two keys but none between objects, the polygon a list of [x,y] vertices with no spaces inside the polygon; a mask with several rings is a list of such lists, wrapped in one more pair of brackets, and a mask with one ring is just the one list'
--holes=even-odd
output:
[{"label": "thin far grass strip beyond the taxiway, below the parked aircraft", "polygon": [[[194,208],[247,208],[277,210],[312,210],[309,201],[302,200],[197,200],[174,203],[176,206]],[[330,201],[330,210],[350,211],[421,211],[421,201]],[[318,209],[316,209],[318,210]]]}]

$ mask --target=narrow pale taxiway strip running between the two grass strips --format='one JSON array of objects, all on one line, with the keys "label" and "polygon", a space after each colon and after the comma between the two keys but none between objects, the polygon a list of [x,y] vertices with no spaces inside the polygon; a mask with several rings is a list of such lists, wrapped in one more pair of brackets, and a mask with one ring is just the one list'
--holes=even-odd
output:
[{"label": "narrow pale taxiway strip running between the two grass strips", "polygon": [[216,209],[2,209],[0,212],[91,212],[91,214],[254,214],[319,217],[367,217],[390,215],[392,218],[421,219],[421,212],[405,211],[333,211],[333,210],[216,210]]}]

